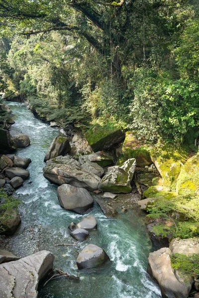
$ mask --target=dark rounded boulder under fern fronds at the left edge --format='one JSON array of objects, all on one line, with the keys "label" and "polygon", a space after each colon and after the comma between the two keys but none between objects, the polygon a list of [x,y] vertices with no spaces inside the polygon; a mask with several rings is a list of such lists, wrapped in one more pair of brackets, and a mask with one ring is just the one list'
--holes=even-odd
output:
[{"label": "dark rounded boulder under fern fronds at the left edge", "polygon": [[1,214],[1,220],[1,235],[12,235],[21,222],[18,212],[14,209],[6,211],[6,214]]}]

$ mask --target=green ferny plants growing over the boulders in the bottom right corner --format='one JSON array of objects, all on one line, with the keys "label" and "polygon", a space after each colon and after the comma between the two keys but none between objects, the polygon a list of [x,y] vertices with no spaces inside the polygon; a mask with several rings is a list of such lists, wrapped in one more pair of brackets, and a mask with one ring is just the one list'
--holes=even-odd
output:
[{"label": "green ferny plants growing over the boulders in the bottom right corner", "polygon": [[198,279],[199,277],[199,254],[184,255],[175,253],[171,256],[172,267],[179,270],[185,277],[190,276]]}]

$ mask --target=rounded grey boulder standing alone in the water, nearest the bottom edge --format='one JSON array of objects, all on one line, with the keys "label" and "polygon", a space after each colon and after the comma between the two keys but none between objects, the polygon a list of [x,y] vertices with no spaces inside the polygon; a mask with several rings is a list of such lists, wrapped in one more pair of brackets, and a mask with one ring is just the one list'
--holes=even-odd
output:
[{"label": "rounded grey boulder standing alone in the water, nearest the bottom edge", "polygon": [[109,260],[105,251],[94,244],[89,244],[79,253],[77,258],[78,269],[99,267]]}]

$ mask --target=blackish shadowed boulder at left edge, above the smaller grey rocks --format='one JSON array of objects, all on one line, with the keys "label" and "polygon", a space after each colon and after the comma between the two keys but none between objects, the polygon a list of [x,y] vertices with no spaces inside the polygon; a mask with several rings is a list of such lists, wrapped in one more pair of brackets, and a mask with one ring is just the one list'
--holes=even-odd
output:
[{"label": "blackish shadowed boulder at left edge, above the smaller grey rocks", "polygon": [[9,153],[15,149],[16,145],[11,134],[7,130],[0,128],[0,153]]}]

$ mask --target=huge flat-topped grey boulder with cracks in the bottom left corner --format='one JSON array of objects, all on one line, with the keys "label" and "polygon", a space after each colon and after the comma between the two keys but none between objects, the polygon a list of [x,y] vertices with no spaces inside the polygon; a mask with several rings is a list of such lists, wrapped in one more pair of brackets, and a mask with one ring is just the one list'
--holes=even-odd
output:
[{"label": "huge flat-topped grey boulder with cracks in the bottom left corner", "polygon": [[0,297],[37,298],[38,284],[53,268],[54,256],[42,250],[17,261],[0,264]]}]

